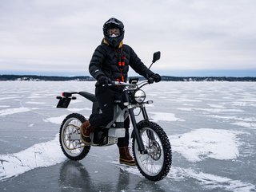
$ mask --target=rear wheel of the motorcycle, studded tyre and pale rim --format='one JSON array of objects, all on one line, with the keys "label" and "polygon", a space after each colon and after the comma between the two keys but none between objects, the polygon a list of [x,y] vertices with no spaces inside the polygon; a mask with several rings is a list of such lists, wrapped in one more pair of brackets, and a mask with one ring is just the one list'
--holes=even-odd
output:
[{"label": "rear wheel of the motorcycle, studded tyre and pale rim", "polygon": [[71,160],[81,160],[90,151],[90,146],[82,143],[80,126],[86,118],[78,113],[66,116],[59,130],[59,143],[64,155]]}]

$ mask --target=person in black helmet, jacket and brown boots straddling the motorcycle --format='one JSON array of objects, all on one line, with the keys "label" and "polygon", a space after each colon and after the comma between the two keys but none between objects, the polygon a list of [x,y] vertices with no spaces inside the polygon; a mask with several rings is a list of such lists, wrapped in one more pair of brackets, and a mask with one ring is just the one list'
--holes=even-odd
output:
[{"label": "person in black helmet, jacket and brown boots straddling the motorcycle", "polygon": [[[90,144],[90,132],[99,126],[106,126],[114,117],[114,96],[122,93],[122,87],[116,85],[102,86],[112,84],[113,81],[126,82],[129,66],[138,74],[146,79],[159,82],[161,76],[150,71],[142,63],[134,50],[123,44],[124,25],[116,18],[110,18],[103,25],[104,38],[101,45],[95,49],[89,65],[90,75],[97,80],[95,84],[95,96],[98,100],[102,114],[92,114],[89,120],[82,123],[81,137],[82,142]],[[152,83],[152,82],[151,82]],[[129,152],[129,127],[130,119],[126,118],[124,122],[126,136],[118,138],[119,163],[134,166],[134,159]]]}]

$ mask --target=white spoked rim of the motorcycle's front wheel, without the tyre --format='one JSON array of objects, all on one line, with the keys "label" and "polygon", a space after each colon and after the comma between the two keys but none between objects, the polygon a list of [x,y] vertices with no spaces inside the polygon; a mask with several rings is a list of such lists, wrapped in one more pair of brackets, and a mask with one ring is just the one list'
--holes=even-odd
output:
[{"label": "white spoked rim of the motorcycle's front wheel, without the tyre", "polygon": [[[153,137],[152,135],[150,137],[154,138],[154,140],[149,138],[147,131],[153,133]],[[138,143],[137,140],[135,140],[134,154],[136,156],[138,166],[144,173],[150,176],[155,176],[162,171],[164,164],[162,142],[159,139],[158,134],[150,127],[142,128],[140,134],[142,135],[142,142],[145,149],[148,151],[148,154],[142,155],[140,151],[138,151]]]}]

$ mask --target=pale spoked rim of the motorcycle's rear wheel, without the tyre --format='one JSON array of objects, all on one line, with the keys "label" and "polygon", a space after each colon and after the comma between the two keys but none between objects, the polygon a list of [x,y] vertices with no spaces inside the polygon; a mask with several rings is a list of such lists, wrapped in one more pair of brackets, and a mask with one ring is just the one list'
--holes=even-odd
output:
[{"label": "pale spoked rim of the motorcycle's rear wheel, without the tyre", "polygon": [[81,121],[76,118],[66,120],[62,127],[62,147],[70,156],[78,156],[82,153],[85,147],[82,140],[70,139],[70,135],[80,135]]}]

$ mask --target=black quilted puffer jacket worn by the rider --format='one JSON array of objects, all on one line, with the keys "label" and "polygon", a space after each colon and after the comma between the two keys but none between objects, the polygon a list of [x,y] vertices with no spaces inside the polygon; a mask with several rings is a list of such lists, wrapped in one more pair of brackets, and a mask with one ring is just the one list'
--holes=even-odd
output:
[{"label": "black quilted puffer jacket worn by the rider", "polygon": [[[118,65],[120,60],[125,62],[124,66]],[[122,45],[121,48],[114,49],[114,47],[106,45],[102,41],[102,44],[98,45],[91,58],[89,72],[96,80],[99,76],[107,76],[111,80],[126,81],[129,66],[144,77],[154,74],[142,63],[129,45]]]}]

